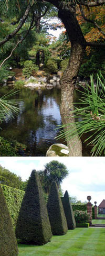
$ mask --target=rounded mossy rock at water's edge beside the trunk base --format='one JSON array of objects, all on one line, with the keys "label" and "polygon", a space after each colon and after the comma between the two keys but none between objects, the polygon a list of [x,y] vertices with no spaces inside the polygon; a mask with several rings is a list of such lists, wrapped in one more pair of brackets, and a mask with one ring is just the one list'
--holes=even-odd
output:
[{"label": "rounded mossy rock at water's edge beside the trunk base", "polygon": [[64,144],[53,144],[49,147],[46,152],[46,157],[68,157],[69,150],[68,147]]}]

